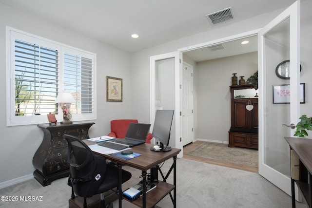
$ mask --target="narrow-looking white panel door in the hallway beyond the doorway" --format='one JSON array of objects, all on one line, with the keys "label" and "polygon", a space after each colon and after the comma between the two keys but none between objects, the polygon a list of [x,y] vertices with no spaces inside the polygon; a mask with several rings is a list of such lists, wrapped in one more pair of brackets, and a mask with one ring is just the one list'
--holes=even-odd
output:
[{"label": "narrow-looking white panel door in the hallway beyond the doorway", "polygon": [[193,67],[183,63],[182,67],[182,143],[183,146],[193,142],[194,139],[194,116],[193,116]]}]

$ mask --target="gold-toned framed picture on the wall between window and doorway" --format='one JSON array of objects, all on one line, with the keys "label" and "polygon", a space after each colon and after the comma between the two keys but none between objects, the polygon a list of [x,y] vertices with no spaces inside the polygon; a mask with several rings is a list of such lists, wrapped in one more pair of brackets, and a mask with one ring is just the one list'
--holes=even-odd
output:
[{"label": "gold-toned framed picture on the wall between window and doorway", "polygon": [[122,79],[106,76],[106,101],[122,102]]}]

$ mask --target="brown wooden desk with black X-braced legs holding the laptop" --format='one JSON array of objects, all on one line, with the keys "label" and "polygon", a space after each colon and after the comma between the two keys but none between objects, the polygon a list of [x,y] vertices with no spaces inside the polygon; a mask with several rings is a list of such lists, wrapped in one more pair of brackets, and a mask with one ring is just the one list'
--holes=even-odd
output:
[{"label": "brown wooden desk with black X-braced legs holding the laptop", "polygon": [[[89,141],[84,141],[87,145],[93,145],[95,143],[89,142]],[[119,168],[119,181],[121,182],[121,167],[122,165],[127,165],[133,168],[136,168],[138,170],[142,170],[142,181],[143,181],[143,196],[138,198],[137,200],[131,202],[135,204],[138,207],[141,208],[151,208],[155,206],[163,197],[165,197],[168,193],[171,196],[171,199],[174,204],[174,208],[176,208],[176,155],[181,151],[180,149],[172,148],[171,151],[167,152],[155,152],[151,151],[150,148],[154,146],[151,144],[142,144],[135,146],[131,149],[133,152],[140,153],[141,155],[138,157],[135,157],[130,160],[121,160],[116,157],[112,157],[110,155],[105,155],[105,154],[100,154],[104,156],[105,158],[114,161],[117,163],[118,168]],[[95,152],[97,153],[97,152]],[[99,153],[97,153],[99,154]],[[173,165],[169,172],[167,173],[166,176],[163,176],[161,170],[158,167],[158,164],[173,158]],[[159,181],[156,183],[157,187],[155,190],[152,190],[151,192],[146,193],[146,175],[147,175],[147,170],[157,166],[158,170],[161,173],[161,176],[163,178],[163,181]],[[168,178],[169,174],[171,171],[174,170],[174,184],[168,184],[166,183],[166,179]],[[134,184],[135,185],[135,184]],[[171,191],[174,190],[174,196],[171,195]],[[119,191],[119,208],[121,208],[121,200],[122,200],[122,189],[121,189],[121,183],[119,184],[118,187]],[[126,198],[124,198],[127,200]]]}]

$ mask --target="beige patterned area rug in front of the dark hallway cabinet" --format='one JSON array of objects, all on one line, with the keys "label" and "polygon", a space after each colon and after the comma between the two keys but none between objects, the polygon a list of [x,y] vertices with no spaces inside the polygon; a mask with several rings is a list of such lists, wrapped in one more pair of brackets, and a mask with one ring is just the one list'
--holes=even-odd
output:
[{"label": "beige patterned area rug in front of the dark hallway cabinet", "polygon": [[258,168],[258,150],[255,149],[229,148],[227,144],[207,142],[199,145],[187,154]]}]

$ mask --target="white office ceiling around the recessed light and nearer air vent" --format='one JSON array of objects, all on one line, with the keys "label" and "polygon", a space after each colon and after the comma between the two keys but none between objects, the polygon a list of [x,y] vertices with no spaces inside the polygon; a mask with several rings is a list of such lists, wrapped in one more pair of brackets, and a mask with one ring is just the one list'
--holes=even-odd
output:
[{"label": "white office ceiling around the recessed light and nearer air vent", "polygon": [[[61,27],[104,42],[127,52],[136,52],[226,26],[276,9],[295,0],[0,0],[0,3],[30,13]],[[1,4],[0,4],[1,6]],[[207,14],[232,7],[234,20],[212,26]],[[131,38],[137,33],[139,38]],[[229,45],[228,45],[229,44]],[[240,42],[226,48],[241,47]],[[244,46],[245,51],[247,47]],[[256,45],[256,43],[255,43]],[[239,47],[238,47],[239,46]],[[254,50],[254,49],[248,49]],[[256,50],[256,49],[255,49]],[[230,51],[230,50],[227,50]],[[198,52],[198,53],[197,53]],[[203,60],[207,48],[197,51]],[[210,54],[216,58],[216,54]],[[243,52],[243,53],[248,53]],[[230,53],[230,52],[227,52]],[[231,52],[232,53],[232,52]],[[235,54],[231,54],[233,56]],[[224,54],[223,54],[224,56]],[[228,55],[227,55],[228,56]]]}]

